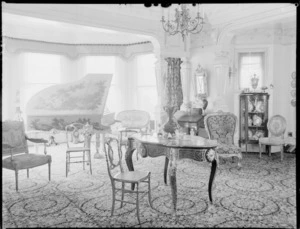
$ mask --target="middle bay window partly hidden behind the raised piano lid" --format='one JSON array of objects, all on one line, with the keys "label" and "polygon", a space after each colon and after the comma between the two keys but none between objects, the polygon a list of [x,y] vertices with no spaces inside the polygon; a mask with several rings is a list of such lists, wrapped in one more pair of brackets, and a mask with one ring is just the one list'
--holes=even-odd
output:
[{"label": "middle bay window partly hidden behind the raised piano lid", "polygon": [[114,56],[87,56],[85,59],[86,74],[112,74],[112,81],[108,91],[104,114],[114,112],[118,107],[118,99],[116,99],[117,79],[115,77],[115,57]]}]

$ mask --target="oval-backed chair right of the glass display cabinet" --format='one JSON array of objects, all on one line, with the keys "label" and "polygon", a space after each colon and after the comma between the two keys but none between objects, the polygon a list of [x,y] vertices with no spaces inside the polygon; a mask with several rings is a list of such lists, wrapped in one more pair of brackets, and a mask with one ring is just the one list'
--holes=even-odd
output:
[{"label": "oval-backed chair right of the glass display cabinet", "polygon": [[272,146],[280,146],[281,150],[281,160],[283,160],[283,148],[285,145],[284,140],[284,132],[286,130],[286,120],[281,115],[272,116],[267,124],[267,128],[269,133],[271,134],[269,137],[259,138],[259,157],[261,158],[261,147],[262,145],[266,145],[267,152],[269,151],[269,156],[271,156],[271,147]]}]

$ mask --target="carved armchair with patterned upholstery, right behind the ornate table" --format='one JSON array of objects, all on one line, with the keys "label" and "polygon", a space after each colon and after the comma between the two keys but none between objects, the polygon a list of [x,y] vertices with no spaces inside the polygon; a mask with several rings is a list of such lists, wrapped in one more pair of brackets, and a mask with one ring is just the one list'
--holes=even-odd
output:
[{"label": "carved armchair with patterned upholstery, right behind the ornate table", "polygon": [[205,130],[209,139],[217,140],[216,152],[220,158],[237,157],[241,167],[242,151],[234,144],[237,117],[230,112],[218,111],[204,117]]}]

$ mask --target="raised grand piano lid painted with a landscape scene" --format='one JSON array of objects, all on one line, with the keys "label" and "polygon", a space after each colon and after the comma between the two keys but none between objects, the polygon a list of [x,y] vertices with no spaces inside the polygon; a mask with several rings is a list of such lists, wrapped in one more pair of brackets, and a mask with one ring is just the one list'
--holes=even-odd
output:
[{"label": "raised grand piano lid painted with a landscape scene", "polygon": [[28,129],[64,130],[69,123],[87,121],[101,129],[111,79],[112,74],[88,74],[38,92],[26,107]]}]

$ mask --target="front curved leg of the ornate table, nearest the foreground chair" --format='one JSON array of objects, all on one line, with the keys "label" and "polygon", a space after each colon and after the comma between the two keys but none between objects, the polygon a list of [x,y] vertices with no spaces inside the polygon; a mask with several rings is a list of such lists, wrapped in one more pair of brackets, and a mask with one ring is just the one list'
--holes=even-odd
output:
[{"label": "front curved leg of the ornate table, nearest the foreground chair", "polygon": [[176,184],[176,160],[178,158],[178,149],[171,148],[169,151],[169,180],[171,186],[172,203],[173,203],[173,214],[176,217],[176,206],[177,206],[177,184]]}]

